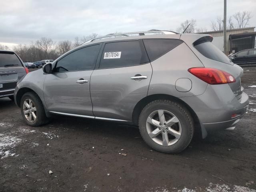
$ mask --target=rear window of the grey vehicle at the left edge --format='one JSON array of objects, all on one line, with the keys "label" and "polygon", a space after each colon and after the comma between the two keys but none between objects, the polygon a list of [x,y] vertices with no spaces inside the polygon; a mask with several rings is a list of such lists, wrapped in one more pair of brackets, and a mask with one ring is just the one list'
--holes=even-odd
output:
[{"label": "rear window of the grey vehicle at the left edge", "polygon": [[0,52],[0,67],[22,66],[14,53]]}]

